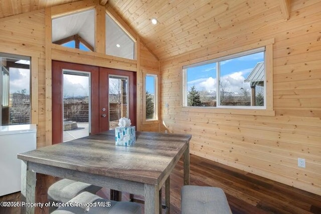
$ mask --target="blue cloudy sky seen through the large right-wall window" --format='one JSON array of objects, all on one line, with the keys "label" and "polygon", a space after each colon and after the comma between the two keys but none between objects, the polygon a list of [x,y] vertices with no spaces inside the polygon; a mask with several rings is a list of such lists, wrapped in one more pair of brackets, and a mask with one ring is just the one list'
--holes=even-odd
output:
[{"label": "blue cloudy sky seen through the large right-wall window", "polygon": [[[264,52],[238,57],[221,62],[221,81],[227,92],[240,92],[240,88],[250,90],[244,80],[258,62],[264,60]],[[194,85],[199,91],[216,91],[216,63],[188,68],[188,90]]]}]

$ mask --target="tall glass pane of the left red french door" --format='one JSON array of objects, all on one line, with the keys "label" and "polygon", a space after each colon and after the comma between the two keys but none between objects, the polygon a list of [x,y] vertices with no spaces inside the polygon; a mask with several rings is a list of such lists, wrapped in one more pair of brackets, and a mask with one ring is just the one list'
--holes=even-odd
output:
[{"label": "tall glass pane of the left red french door", "polygon": [[63,71],[63,141],[90,133],[90,73]]}]

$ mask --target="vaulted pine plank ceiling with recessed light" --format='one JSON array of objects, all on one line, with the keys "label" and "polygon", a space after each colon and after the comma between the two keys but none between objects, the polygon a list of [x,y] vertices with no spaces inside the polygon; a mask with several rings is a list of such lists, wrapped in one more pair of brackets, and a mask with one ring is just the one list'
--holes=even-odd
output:
[{"label": "vaulted pine plank ceiling with recessed light", "polygon": [[[0,18],[77,1],[2,0]],[[230,35],[226,32],[242,35],[289,16],[289,0],[96,1],[111,7],[122,17],[159,59],[228,40]],[[156,25],[151,24],[152,18],[157,19]]]}]

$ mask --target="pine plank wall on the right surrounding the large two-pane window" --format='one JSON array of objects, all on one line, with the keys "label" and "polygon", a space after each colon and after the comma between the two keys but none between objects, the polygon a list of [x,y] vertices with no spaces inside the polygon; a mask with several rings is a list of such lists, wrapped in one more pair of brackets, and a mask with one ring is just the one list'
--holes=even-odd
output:
[{"label": "pine plank wall on the right surrounding the large two-pane window", "polygon": [[[208,47],[161,60],[162,131],[192,134],[192,154],[321,195],[320,8],[320,1],[293,0],[287,21],[244,23]],[[182,108],[183,65],[271,38],[275,116]],[[306,168],[297,167],[298,157]]]}]

